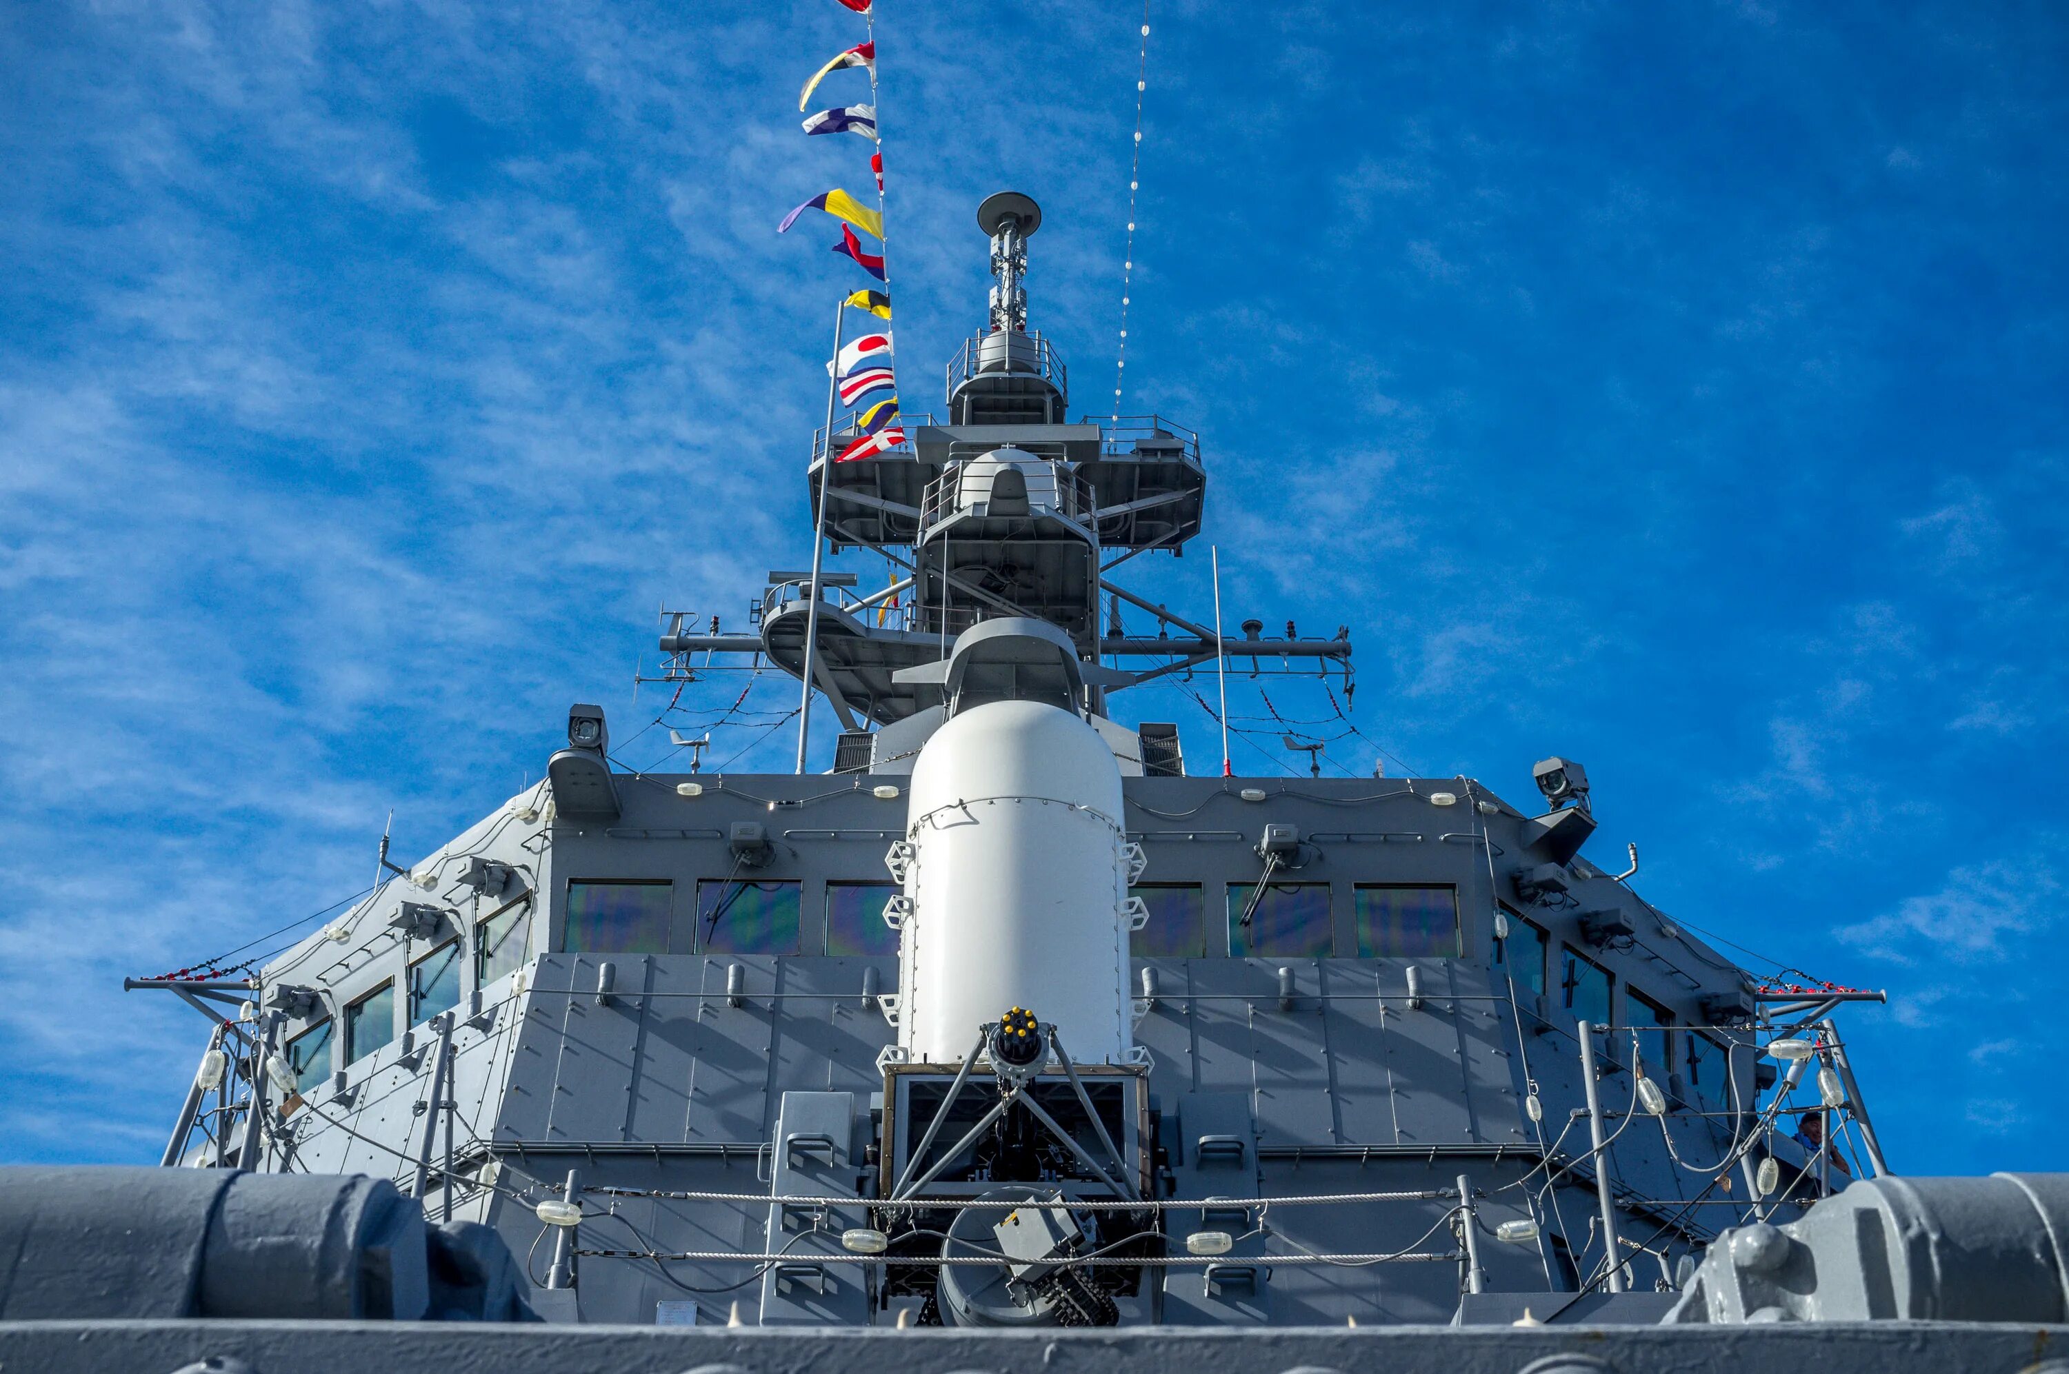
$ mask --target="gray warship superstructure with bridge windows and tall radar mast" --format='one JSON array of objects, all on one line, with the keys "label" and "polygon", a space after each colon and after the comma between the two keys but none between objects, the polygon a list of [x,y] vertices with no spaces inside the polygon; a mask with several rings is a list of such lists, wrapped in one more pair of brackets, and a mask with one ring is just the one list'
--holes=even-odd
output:
[{"label": "gray warship superstructure with bridge windows and tall radar mast", "polygon": [[[660,644],[685,687],[811,683],[832,768],[629,772],[575,706],[544,782],[410,867],[383,848],[254,977],[139,981],[217,1022],[168,1171],[372,1175],[447,1250],[492,1229],[550,1324],[494,1337],[509,1368],[1510,1370],[1597,1324],[1558,1368],[2009,1374],[2061,1339],[2063,1175],[1891,1175],[1837,1020],[1879,993],[1763,981],[1637,896],[1635,850],[1593,863],[1581,764],[1539,761],[1529,805],[1248,778],[1107,714],[1171,675],[1347,675],[1351,639],[1223,637],[1117,581],[1202,532],[1198,439],[1070,420],[1020,286],[1041,213],[979,221],[997,286],[946,420],[859,461],[859,430],[813,441],[823,544],[896,579],[815,555],[753,633],[685,613]],[[432,1314],[350,1244],[372,1297],[277,1314]]]}]

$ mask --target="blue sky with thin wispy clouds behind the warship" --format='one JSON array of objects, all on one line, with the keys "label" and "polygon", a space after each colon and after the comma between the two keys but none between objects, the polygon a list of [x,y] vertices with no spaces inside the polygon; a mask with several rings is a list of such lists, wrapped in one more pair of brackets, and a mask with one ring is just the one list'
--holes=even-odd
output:
[{"label": "blue sky with thin wispy clouds behind the warship", "polygon": [[[1109,408],[1138,23],[881,0],[908,410],[1001,186]],[[2061,12],[1150,23],[1128,410],[1202,430],[1231,621],[1349,623],[1386,749],[1512,801],[1579,757],[1653,902],[1889,987],[1850,1024],[1899,1169],[2063,1167]],[[627,741],[656,608],[739,625],[809,557],[861,281],[774,226],[867,186],[797,128],[859,39],[834,0],[0,17],[0,1159],[155,1157],[203,1026],[122,975],[362,888],[389,809],[434,848],[573,699]],[[1130,571],[1208,604],[1204,557]]]}]

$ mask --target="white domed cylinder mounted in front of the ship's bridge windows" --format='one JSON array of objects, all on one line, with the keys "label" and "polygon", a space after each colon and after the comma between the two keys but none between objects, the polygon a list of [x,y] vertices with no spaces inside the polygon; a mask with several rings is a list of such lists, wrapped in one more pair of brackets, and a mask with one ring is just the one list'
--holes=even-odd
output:
[{"label": "white domed cylinder mounted in front of the ship's bridge windows", "polygon": [[1128,836],[1113,751],[1043,701],[956,712],[912,768],[898,1043],[958,1062],[1020,1006],[1072,1059],[1130,1049]]}]

